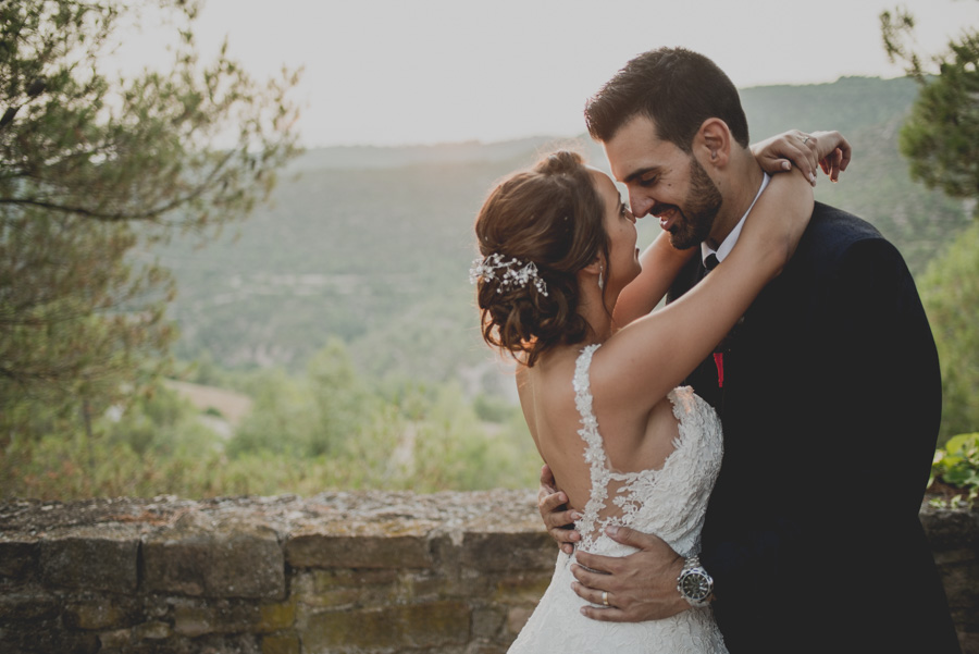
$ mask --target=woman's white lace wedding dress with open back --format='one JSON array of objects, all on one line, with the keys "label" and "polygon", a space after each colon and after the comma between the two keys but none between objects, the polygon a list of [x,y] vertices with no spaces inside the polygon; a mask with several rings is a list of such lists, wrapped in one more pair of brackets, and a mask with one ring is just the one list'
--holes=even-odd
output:
[{"label": "woman's white lace wedding dress with open back", "polygon": [[[591,465],[592,491],[581,520],[581,550],[606,556],[625,556],[634,548],[616,543],[604,530],[625,525],[655,533],[682,556],[699,552],[701,529],[707,499],[720,470],[720,420],[714,409],[690,387],[673,390],[669,399],[679,422],[674,451],[659,470],[620,473],[611,470],[598,421],[592,412],[588,368],[597,345],[578,357],[574,393]],[[608,499],[611,498],[611,503]],[[709,607],[684,610],[665,620],[602,622],[580,613],[584,601],[571,590],[573,556],[559,553],[554,578],[510,653],[555,652],[658,652],[726,653],[723,639]]]}]

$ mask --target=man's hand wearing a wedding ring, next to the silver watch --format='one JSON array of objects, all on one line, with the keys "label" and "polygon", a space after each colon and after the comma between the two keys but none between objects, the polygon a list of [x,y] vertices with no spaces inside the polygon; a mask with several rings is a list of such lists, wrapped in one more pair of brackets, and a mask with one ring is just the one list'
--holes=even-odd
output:
[{"label": "man's hand wearing a wedding ring, next to the silver watch", "polygon": [[[581,565],[571,567],[578,579],[571,588],[583,600],[598,605],[583,606],[581,613],[594,620],[641,622],[668,618],[690,608],[677,590],[683,557],[672,547],[662,539],[628,527],[609,527],[606,533],[639,552],[623,557],[578,553]],[[605,592],[608,607],[602,606]]]}]

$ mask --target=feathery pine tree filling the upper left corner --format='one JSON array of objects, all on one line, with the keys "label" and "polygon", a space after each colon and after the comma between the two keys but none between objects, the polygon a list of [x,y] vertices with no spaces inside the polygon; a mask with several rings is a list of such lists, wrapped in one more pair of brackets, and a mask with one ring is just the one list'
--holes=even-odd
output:
[{"label": "feathery pine tree filling the upper left corner", "polygon": [[[148,245],[246,214],[295,152],[295,74],[258,84],[224,51],[202,64],[197,4],[0,3],[0,445],[44,433],[38,412],[80,411],[90,439],[152,379],[175,333]],[[153,8],[172,66],[111,78],[117,30]]]}]

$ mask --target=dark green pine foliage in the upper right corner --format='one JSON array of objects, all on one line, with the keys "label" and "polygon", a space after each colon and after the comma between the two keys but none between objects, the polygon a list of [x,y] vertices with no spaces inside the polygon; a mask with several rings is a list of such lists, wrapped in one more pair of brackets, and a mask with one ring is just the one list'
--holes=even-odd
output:
[{"label": "dark green pine foliage in the upper right corner", "polygon": [[[891,60],[907,63],[920,85],[910,116],[901,129],[901,151],[910,173],[929,188],[951,197],[979,196],[979,29],[967,27],[949,53],[932,60],[937,74],[906,45],[914,16],[897,10],[881,14],[884,48]],[[975,215],[979,218],[979,205]]]}]

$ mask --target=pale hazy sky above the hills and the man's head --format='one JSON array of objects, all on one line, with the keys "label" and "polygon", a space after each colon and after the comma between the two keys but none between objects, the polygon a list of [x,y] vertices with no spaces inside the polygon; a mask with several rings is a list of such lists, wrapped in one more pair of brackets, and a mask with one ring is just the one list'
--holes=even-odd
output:
[{"label": "pale hazy sky above the hills and the man's head", "polygon": [[[740,88],[899,76],[878,20],[899,3],[925,52],[979,25],[976,0],[208,0],[197,34],[205,52],[226,35],[258,75],[305,67],[308,146],[490,141],[582,133],[585,98],[660,46]],[[160,51],[152,34],[127,49]]]}]

